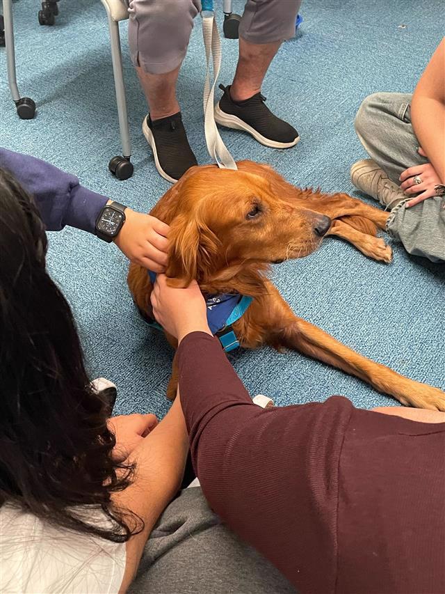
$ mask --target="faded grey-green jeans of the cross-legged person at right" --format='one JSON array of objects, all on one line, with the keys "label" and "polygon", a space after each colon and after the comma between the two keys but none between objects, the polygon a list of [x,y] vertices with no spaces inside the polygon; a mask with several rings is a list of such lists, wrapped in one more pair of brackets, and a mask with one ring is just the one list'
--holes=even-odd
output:
[{"label": "faded grey-green jeans of the cross-legged person at right", "polygon": [[[366,97],[355,118],[355,130],[366,153],[400,185],[402,171],[428,159],[417,152],[419,141],[411,123],[412,95],[374,93]],[[387,230],[414,256],[445,261],[445,198],[437,196],[391,210]]]}]

